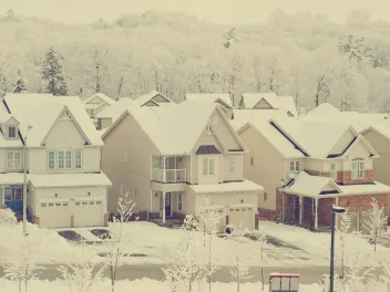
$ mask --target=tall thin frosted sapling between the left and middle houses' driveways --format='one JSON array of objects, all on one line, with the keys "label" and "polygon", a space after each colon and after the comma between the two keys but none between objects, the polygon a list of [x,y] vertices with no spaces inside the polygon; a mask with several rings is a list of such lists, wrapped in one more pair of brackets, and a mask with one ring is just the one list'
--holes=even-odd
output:
[{"label": "tall thin frosted sapling between the left and middle houses' driveways", "polygon": [[129,243],[123,239],[125,223],[133,215],[135,202],[130,199],[129,192],[120,196],[117,201],[117,217],[110,223],[107,238],[103,241],[107,250],[107,267],[111,275],[111,291],[115,291],[116,272],[123,264],[121,257]]}]

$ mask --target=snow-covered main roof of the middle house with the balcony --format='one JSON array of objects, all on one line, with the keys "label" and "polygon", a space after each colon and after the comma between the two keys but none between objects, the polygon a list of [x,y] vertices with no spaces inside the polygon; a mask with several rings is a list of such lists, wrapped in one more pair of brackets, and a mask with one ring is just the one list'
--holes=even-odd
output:
[{"label": "snow-covered main roof of the middle house with the balcony", "polygon": [[[219,104],[213,103],[181,103],[163,107],[140,107],[127,103],[121,117],[132,115],[162,154],[189,154],[216,108],[223,111]],[[222,116],[226,118],[223,112]],[[121,117],[115,123],[120,123]],[[115,123],[103,134],[103,138],[115,127]]]}]

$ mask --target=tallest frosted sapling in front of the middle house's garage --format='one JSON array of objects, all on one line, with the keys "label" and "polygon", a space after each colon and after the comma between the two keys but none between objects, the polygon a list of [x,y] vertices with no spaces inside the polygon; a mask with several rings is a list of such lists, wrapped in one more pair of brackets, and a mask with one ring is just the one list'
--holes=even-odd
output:
[{"label": "tallest frosted sapling in front of the middle house's garage", "polygon": [[219,213],[216,208],[213,207],[213,202],[209,197],[201,196],[198,197],[196,205],[196,218],[199,221],[199,227],[203,229],[205,242],[207,234],[207,279],[208,289],[212,291],[212,275],[217,269],[215,261],[213,259],[213,239],[216,238],[220,221],[224,218],[223,213]]}]

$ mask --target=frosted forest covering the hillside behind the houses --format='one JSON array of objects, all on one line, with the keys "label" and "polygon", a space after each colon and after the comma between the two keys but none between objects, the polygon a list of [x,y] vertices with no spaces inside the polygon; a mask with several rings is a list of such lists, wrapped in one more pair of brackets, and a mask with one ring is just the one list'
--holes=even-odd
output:
[{"label": "frosted forest covering the hillside behind the houses", "polygon": [[390,22],[370,21],[360,10],[345,24],[276,10],[250,25],[157,11],[65,25],[8,11],[0,19],[0,96],[20,76],[29,92],[47,92],[49,49],[68,95],[135,98],[158,90],[175,101],[185,93],[229,93],[237,103],[243,92],[274,91],[292,95],[297,106],[329,102],[382,112],[390,101]]}]

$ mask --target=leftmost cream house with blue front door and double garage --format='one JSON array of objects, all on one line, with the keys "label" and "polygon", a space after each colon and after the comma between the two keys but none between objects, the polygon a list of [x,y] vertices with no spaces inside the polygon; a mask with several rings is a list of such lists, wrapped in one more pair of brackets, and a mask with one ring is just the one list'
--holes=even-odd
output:
[{"label": "leftmost cream house with blue front door and double garage", "polygon": [[[42,111],[44,108],[44,111]],[[0,101],[0,206],[45,228],[107,222],[104,145],[78,96],[8,94]],[[24,156],[25,150],[25,156]]]}]

